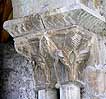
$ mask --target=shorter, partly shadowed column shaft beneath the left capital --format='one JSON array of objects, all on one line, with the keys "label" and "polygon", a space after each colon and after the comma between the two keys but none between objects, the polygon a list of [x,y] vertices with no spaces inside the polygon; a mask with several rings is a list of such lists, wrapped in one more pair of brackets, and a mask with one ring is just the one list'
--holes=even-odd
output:
[{"label": "shorter, partly shadowed column shaft beneath the left capital", "polygon": [[56,89],[39,90],[38,99],[57,99],[57,90]]}]

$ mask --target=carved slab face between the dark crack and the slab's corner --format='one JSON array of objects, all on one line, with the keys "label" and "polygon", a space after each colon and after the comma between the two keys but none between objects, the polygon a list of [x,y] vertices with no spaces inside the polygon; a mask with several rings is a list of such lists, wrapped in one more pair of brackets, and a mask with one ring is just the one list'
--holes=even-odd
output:
[{"label": "carved slab face between the dark crack and the slab's corner", "polygon": [[60,13],[61,9],[47,11],[42,15],[42,19],[47,29],[60,29],[76,24],[68,13]]}]

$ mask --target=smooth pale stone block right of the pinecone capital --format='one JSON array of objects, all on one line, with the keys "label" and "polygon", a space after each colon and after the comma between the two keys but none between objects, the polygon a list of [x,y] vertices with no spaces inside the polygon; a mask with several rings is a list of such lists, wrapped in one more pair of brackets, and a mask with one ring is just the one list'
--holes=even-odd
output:
[{"label": "smooth pale stone block right of the pinecone capital", "polygon": [[105,32],[101,35],[95,35],[93,39],[93,44],[91,48],[91,56],[88,60],[88,66],[105,64],[106,63],[106,37]]}]

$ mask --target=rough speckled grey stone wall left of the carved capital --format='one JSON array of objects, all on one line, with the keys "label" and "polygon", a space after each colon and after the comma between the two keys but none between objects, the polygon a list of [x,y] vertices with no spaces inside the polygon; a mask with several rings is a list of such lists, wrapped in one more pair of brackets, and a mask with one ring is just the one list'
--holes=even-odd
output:
[{"label": "rough speckled grey stone wall left of the carved capital", "polygon": [[32,65],[11,43],[0,45],[0,99],[35,99]]}]

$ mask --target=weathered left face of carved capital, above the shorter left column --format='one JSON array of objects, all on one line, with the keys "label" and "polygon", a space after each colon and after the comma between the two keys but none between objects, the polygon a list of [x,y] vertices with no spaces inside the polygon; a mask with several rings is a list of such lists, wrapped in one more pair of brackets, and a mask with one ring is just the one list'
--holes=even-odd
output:
[{"label": "weathered left face of carved capital, above the shorter left column", "polygon": [[40,40],[38,38],[19,39],[15,39],[15,48],[18,53],[25,56],[28,60],[31,60],[34,67],[36,86],[38,88],[41,85],[42,88],[50,87],[51,70],[49,65],[51,65],[51,62],[45,50],[41,52],[39,49]]}]

